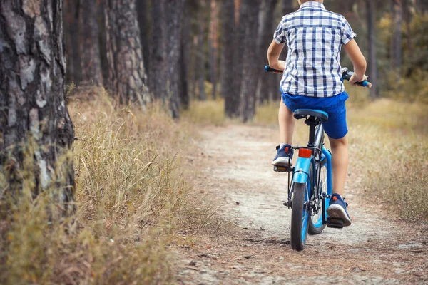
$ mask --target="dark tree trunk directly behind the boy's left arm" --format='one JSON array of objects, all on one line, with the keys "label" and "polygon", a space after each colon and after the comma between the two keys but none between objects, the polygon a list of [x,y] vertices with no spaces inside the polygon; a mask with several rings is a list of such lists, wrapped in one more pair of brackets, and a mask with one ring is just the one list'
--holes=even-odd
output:
[{"label": "dark tree trunk directly behind the boy's left arm", "polygon": [[[265,0],[263,3],[263,16],[260,21],[260,39],[258,43],[258,70],[262,70],[267,65],[267,48],[273,39],[273,33],[275,31],[275,6],[277,0]],[[275,86],[274,86],[275,85]],[[275,87],[275,88],[273,88]],[[279,86],[276,86],[275,75],[270,73],[261,73],[258,80],[258,103],[265,103],[273,98],[274,95],[279,93]]]}]

